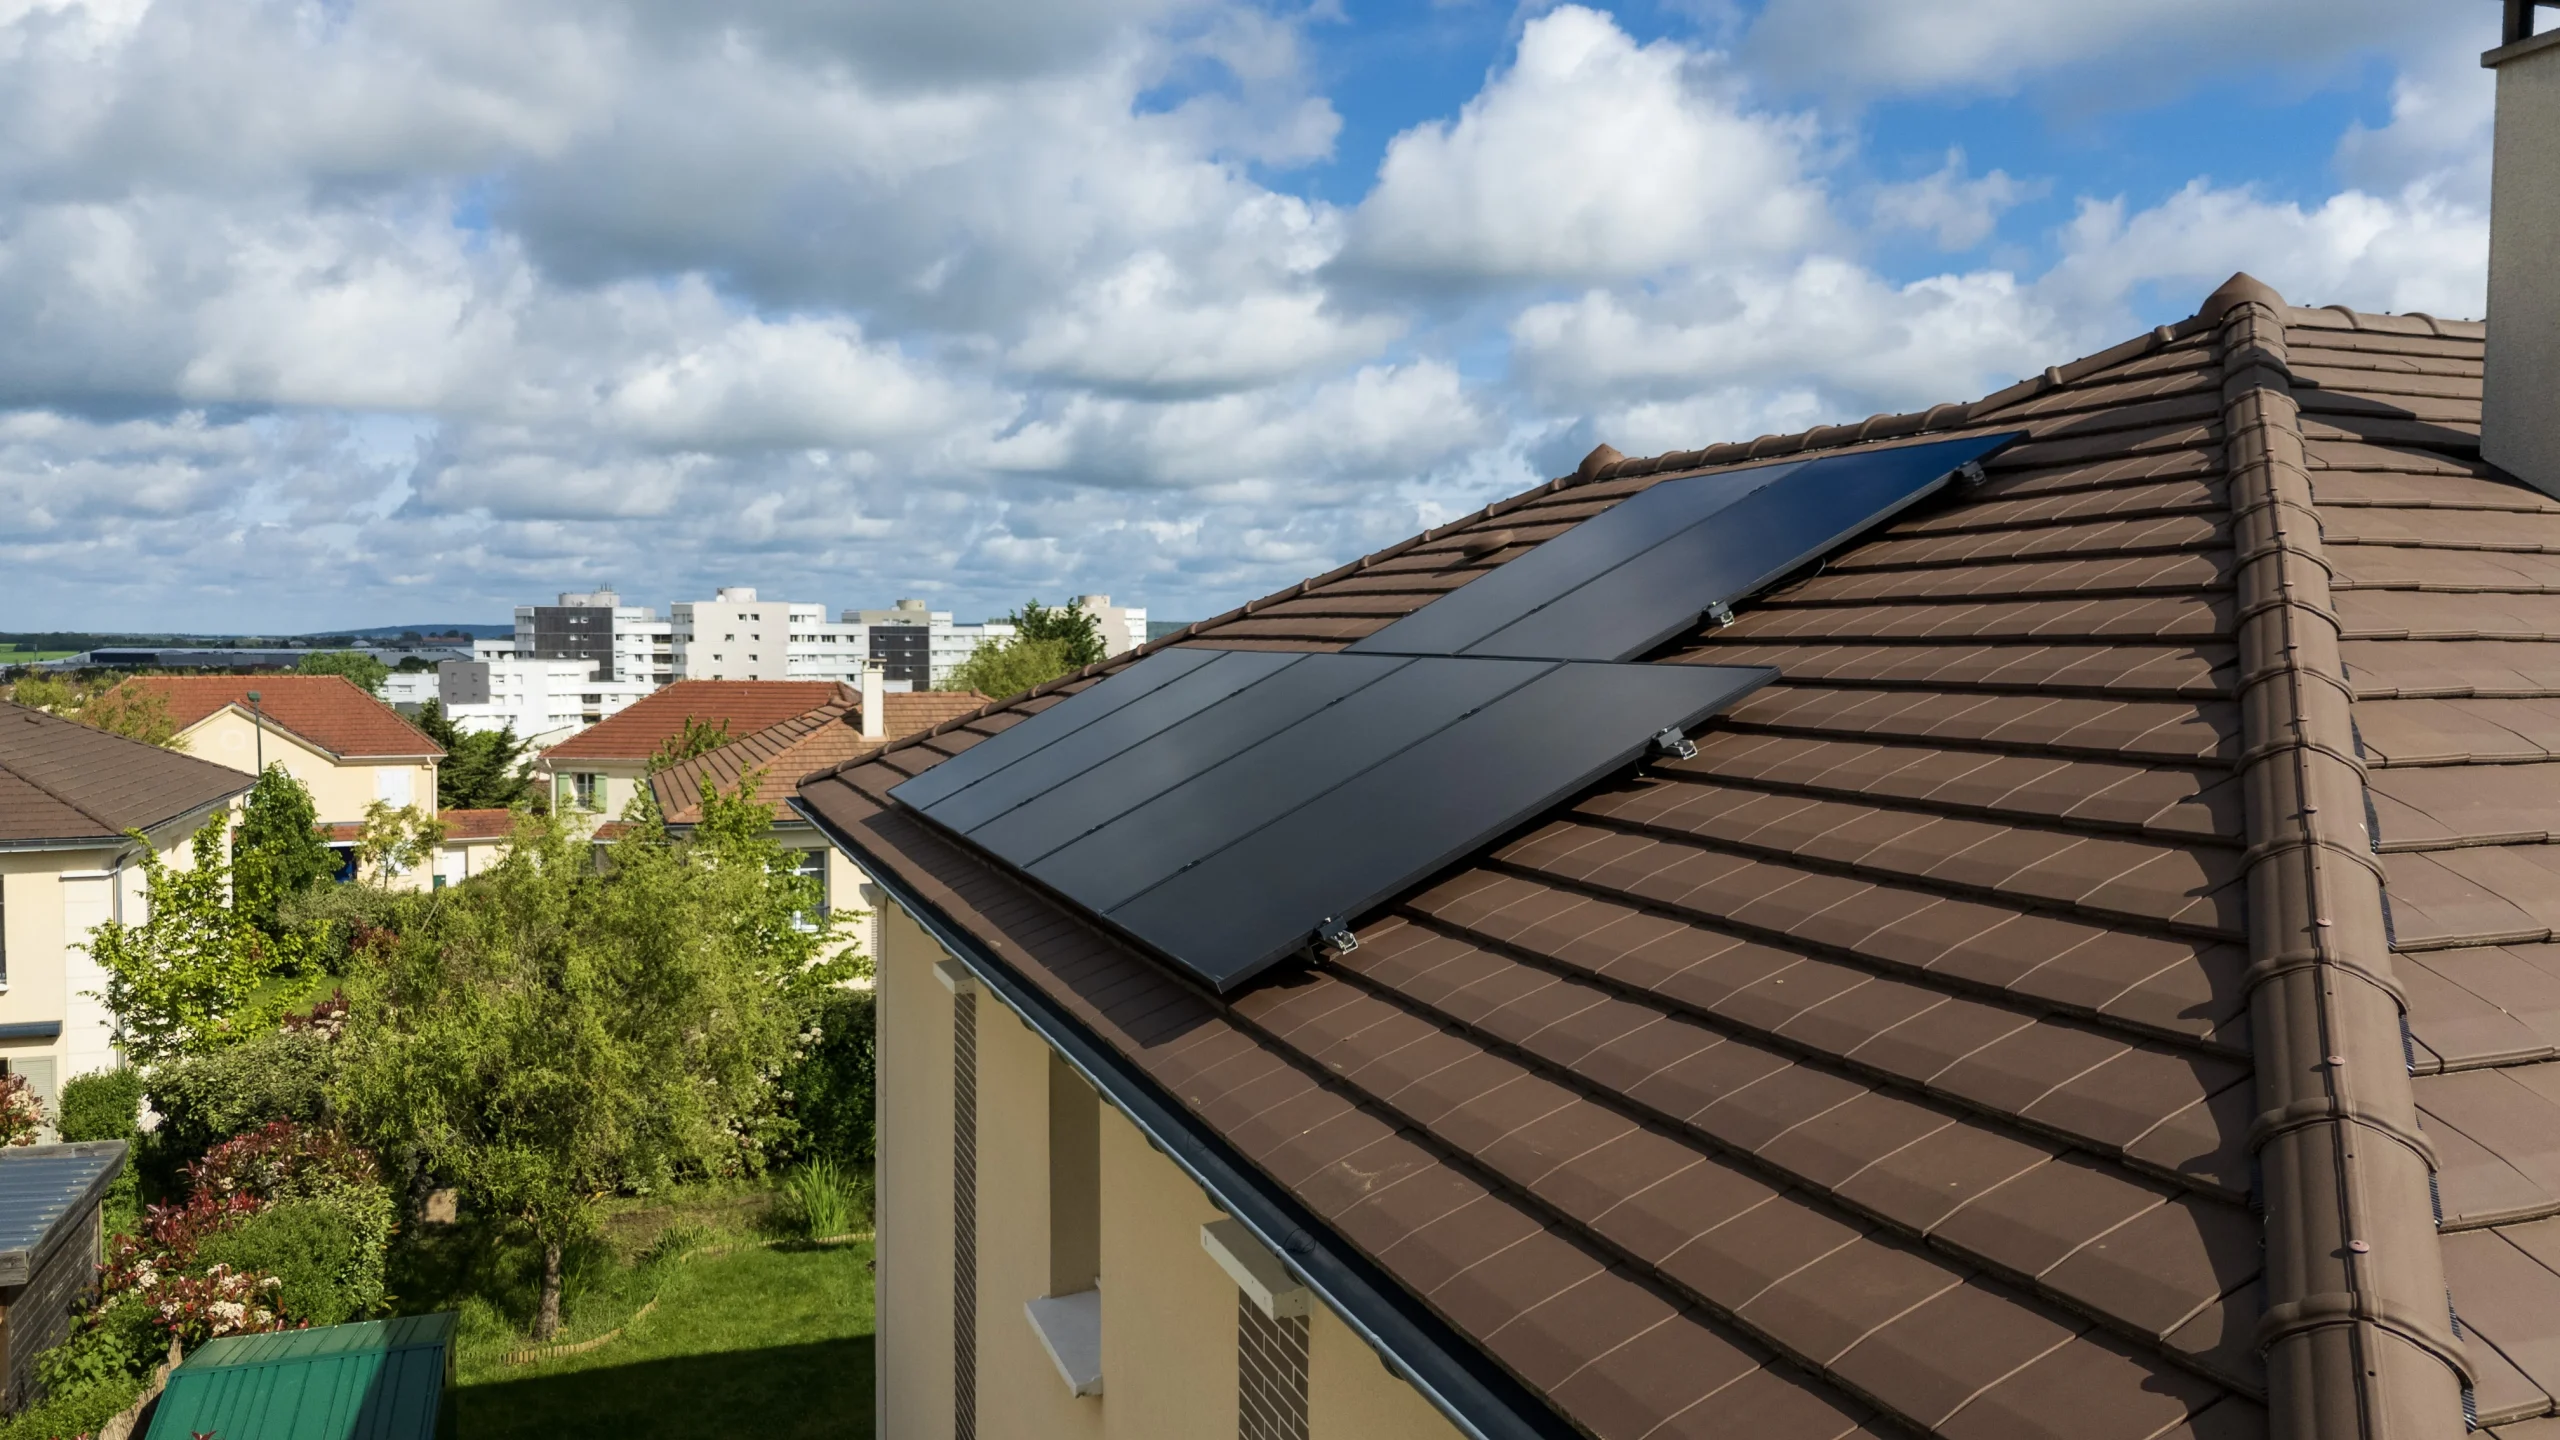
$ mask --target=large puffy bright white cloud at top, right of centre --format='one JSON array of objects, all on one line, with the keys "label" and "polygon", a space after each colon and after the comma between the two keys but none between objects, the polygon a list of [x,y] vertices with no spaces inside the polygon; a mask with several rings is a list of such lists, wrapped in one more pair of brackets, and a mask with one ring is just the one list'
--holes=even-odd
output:
[{"label": "large puffy bright white cloud at top, right of centre", "polygon": [[1531,20],[1454,123],[1388,146],[1349,264],[1408,282],[1631,279],[1784,254],[1823,231],[1810,126],[1741,108],[1723,64],[1608,15]]}]

